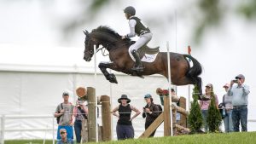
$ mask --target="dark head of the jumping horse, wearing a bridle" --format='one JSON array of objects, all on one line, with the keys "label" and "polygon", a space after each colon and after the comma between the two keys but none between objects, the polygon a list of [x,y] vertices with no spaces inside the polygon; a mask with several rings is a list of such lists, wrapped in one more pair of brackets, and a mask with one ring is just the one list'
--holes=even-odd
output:
[{"label": "dark head of the jumping horse, wearing a bridle", "polygon": [[84,40],[84,60],[90,61],[94,54],[94,45],[98,45],[96,40],[90,36],[90,33],[85,30],[85,40]]}]

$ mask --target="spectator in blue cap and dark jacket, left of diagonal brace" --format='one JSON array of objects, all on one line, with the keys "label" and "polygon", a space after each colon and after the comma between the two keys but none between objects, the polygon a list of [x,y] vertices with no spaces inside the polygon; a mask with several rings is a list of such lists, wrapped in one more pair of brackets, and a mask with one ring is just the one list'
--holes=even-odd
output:
[{"label": "spectator in blue cap and dark jacket, left of diagonal brace", "polygon": [[[143,118],[146,118],[145,130],[147,130],[150,124],[152,124],[154,120],[159,116],[160,110],[154,104],[153,98],[150,94],[144,95],[144,99],[147,105],[143,107]],[[151,135],[149,135],[149,137],[153,137],[154,133],[155,133],[155,130]]]}]

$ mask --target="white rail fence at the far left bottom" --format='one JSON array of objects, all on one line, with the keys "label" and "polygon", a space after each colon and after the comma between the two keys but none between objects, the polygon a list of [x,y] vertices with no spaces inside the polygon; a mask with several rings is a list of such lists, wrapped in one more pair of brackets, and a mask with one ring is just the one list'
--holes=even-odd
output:
[{"label": "white rail fence at the far left bottom", "polygon": [[[55,117],[54,115],[2,115],[1,118],[1,139],[0,144],[4,144],[4,134],[7,132],[14,132],[14,131],[52,131],[52,143],[55,144]],[[28,119],[28,118],[51,118],[52,119],[52,127],[50,128],[22,128],[22,129],[6,129],[5,124],[6,121],[9,119]],[[45,141],[45,138],[44,138]]]}]

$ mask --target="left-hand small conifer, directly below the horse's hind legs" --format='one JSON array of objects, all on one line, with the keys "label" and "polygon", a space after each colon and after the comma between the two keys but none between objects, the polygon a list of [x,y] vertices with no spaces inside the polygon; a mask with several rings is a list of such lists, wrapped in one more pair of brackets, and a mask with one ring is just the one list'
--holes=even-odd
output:
[{"label": "left-hand small conifer, directly below the horse's hind legs", "polygon": [[199,90],[195,86],[193,89],[193,101],[191,102],[191,109],[189,112],[189,128],[191,130],[191,133],[197,133],[201,132],[201,127],[203,125],[203,118],[201,114],[201,108],[198,104],[198,97],[199,97]]}]

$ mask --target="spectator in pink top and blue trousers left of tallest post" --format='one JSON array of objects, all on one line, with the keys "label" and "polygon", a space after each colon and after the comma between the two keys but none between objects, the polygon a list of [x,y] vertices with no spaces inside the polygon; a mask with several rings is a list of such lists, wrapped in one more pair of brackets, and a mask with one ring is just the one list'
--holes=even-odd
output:
[{"label": "spectator in pink top and blue trousers left of tallest post", "polygon": [[75,117],[74,130],[77,143],[81,141],[82,122],[87,119],[88,108],[84,106],[84,101],[77,101],[76,107],[73,108],[73,116]]}]

